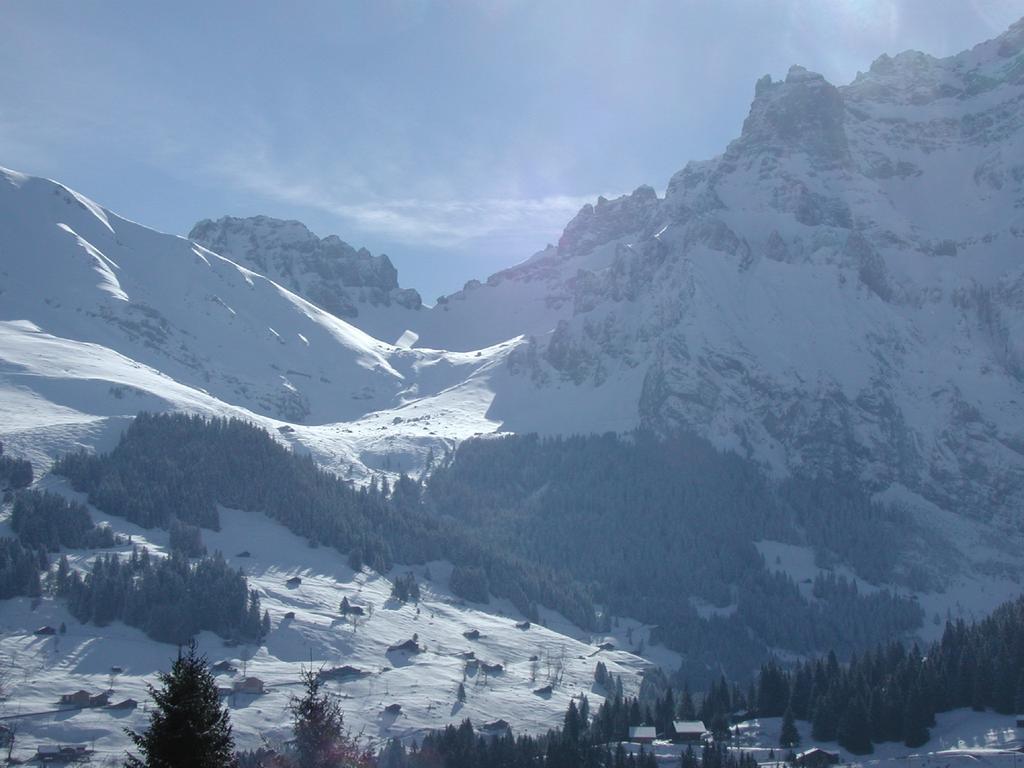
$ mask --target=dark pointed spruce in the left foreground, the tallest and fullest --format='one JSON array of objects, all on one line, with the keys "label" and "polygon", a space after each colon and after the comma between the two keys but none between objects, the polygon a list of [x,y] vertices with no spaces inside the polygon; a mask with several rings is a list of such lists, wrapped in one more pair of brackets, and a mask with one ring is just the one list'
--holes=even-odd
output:
[{"label": "dark pointed spruce in the left foreground, the tallest and fullest", "polygon": [[226,707],[196,642],[187,645],[171,671],[150,686],[155,709],[144,733],[126,730],[141,757],[129,755],[128,768],[228,768],[237,765]]}]

